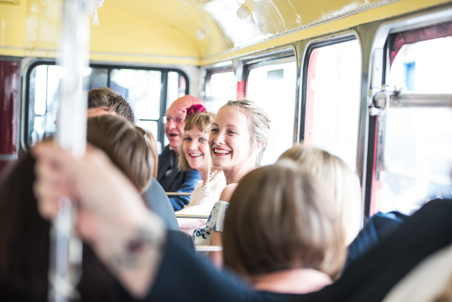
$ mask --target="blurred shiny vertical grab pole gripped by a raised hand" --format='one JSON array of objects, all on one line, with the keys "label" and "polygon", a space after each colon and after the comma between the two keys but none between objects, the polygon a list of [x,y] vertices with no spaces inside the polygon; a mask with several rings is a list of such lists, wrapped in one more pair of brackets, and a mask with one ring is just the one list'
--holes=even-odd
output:
[{"label": "blurred shiny vertical grab pole gripped by a raised hand", "polygon": [[[86,150],[87,95],[82,87],[83,67],[88,66],[89,25],[84,0],[65,0],[59,65],[66,71],[60,90],[56,142],[75,157]],[[76,285],[81,277],[82,243],[75,236],[75,208],[61,198],[50,232],[49,302],[80,299]]]}]

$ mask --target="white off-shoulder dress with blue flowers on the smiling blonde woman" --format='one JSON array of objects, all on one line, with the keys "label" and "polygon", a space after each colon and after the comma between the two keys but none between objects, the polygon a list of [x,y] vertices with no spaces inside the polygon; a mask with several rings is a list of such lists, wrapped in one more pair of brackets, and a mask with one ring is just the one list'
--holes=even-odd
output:
[{"label": "white off-shoulder dress with blue flowers on the smiling blonde woman", "polygon": [[210,234],[212,234],[212,230],[219,232],[223,231],[223,223],[228,205],[229,203],[221,200],[218,200],[215,203],[212,211],[210,211],[206,225],[193,231],[193,241],[195,242],[195,245],[210,245]]}]

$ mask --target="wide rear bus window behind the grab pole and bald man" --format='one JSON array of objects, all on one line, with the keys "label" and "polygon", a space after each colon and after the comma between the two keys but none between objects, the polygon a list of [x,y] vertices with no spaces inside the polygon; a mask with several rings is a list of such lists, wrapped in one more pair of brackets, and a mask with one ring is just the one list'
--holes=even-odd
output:
[{"label": "wide rear bus window behind the grab pole and bald man", "polygon": [[[29,72],[28,120],[25,133],[29,146],[41,141],[45,134],[52,134],[56,130],[58,87],[63,76],[61,67],[52,64],[34,66]],[[163,76],[166,76],[167,80],[164,80]],[[166,87],[162,87],[164,83]],[[101,86],[110,87],[121,94],[131,105],[137,125],[151,131],[159,146],[166,138],[161,122],[165,108],[178,97],[184,96],[188,87],[186,76],[182,72],[118,69],[108,66],[87,67],[83,85],[86,90]],[[161,99],[162,91],[166,91],[164,100]]]}]

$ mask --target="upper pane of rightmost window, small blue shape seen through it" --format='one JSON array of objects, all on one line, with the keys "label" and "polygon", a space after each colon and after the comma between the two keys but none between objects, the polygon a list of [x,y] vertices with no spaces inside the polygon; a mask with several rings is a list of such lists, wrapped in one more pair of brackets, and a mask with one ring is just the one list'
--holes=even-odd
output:
[{"label": "upper pane of rightmost window, small blue shape seen through it", "polygon": [[452,93],[452,37],[403,45],[391,65],[388,85],[415,93]]}]

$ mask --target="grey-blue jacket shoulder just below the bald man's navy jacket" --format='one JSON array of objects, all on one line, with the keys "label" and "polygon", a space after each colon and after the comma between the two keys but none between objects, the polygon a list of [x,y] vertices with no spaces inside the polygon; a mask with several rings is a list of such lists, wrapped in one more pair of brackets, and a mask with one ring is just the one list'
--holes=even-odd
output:
[{"label": "grey-blue jacket shoulder just below the bald man's navy jacket", "polygon": [[173,206],[157,179],[152,178],[149,188],[143,193],[143,199],[147,208],[162,218],[168,230],[179,231],[179,224],[177,223]]}]

